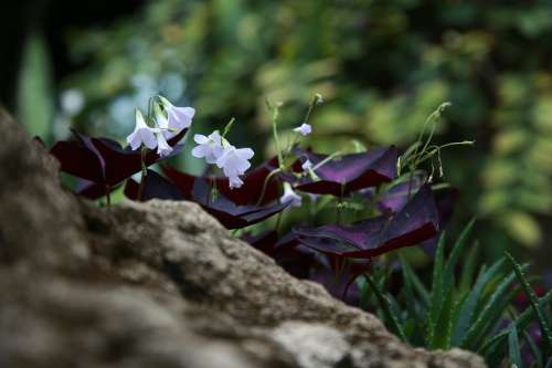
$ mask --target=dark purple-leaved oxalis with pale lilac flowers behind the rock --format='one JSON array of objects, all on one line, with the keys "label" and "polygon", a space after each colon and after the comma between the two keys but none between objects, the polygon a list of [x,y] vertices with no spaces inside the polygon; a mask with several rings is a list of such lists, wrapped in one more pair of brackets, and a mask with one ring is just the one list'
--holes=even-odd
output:
[{"label": "dark purple-leaved oxalis with pale lilac flowers behind the rock", "polygon": [[[78,178],[77,193],[91,199],[124,183],[126,197],[132,200],[194,201],[227,229],[252,229],[278,214],[276,229],[255,236],[245,231],[243,239],[289,273],[317,281],[351,302],[358,292],[353,281],[370,270],[372,259],[416,244],[431,250],[452,201],[438,200],[431,176],[422,171],[401,175],[399,150],[393,146],[333,155],[301,147],[299,139],[312,133],[308,117],[320,102],[317,96],[302,124],[291,129],[294,139],[288,147],[279,146],[274,118],[276,156],[251,170],[255,153],[236,148],[225,137],[234,120],[222,134],[193,136],[191,155],[212,166],[209,175],[193,176],[167,164],[160,165],[161,172],[148,169],[180,151],[179,141],[195,114],[192,107],[176,107],[161,96],[155,97],[146,116],[137,111],[127,147],[75,133],[76,140],[56,143],[51,154],[60,160],[62,171]],[[272,106],[275,117],[278,107]],[[140,170],[138,182],[132,175]],[[308,196],[309,206],[302,196]],[[328,223],[328,214],[320,217],[326,221],[318,221],[318,212],[328,206],[335,221]],[[309,215],[283,232],[283,213],[306,208]],[[344,221],[342,212],[355,215]]]}]

